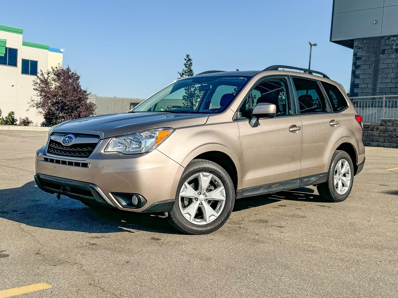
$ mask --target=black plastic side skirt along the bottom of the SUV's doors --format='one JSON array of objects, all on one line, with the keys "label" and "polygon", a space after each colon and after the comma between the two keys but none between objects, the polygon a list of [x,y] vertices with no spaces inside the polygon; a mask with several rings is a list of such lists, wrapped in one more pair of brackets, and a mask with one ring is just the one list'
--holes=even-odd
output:
[{"label": "black plastic side skirt along the bottom of the SUV's doors", "polygon": [[251,197],[254,195],[263,195],[263,194],[270,194],[272,192],[281,192],[283,190],[292,190],[303,186],[320,184],[326,182],[327,179],[328,179],[328,173],[322,173],[322,174],[305,176],[291,180],[285,180],[276,183],[243,188],[237,191],[236,198],[240,199],[241,197]]}]

